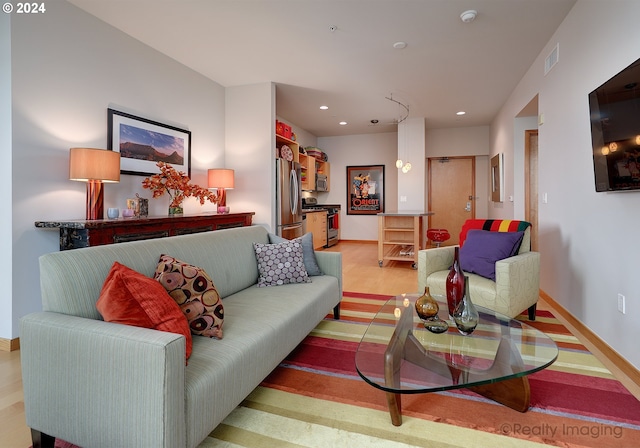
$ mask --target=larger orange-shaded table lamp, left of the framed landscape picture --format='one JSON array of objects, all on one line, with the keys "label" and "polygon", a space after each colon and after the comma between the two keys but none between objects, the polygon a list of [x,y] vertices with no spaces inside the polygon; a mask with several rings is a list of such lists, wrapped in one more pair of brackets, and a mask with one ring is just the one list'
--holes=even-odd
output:
[{"label": "larger orange-shaded table lamp, left of the framed landscape picture", "polygon": [[120,182],[120,153],[106,149],[71,148],[69,179],[87,183],[87,220],[104,219],[104,182]]}]

